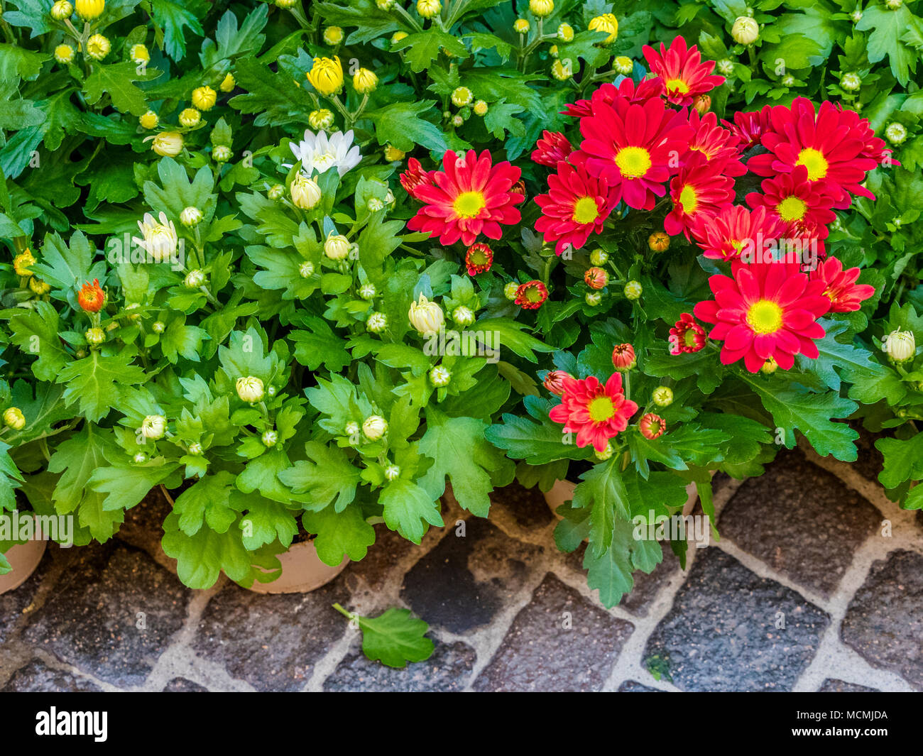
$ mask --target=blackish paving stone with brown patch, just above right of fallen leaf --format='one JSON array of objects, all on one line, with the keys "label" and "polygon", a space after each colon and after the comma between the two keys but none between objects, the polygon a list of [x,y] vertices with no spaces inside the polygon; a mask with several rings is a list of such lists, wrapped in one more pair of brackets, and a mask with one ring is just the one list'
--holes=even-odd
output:
[{"label": "blackish paving stone with brown patch, just above right of fallen leaf", "polygon": [[497,615],[544,551],[509,538],[482,518],[454,527],[405,576],[402,599],[417,617],[455,633],[476,630]]}]

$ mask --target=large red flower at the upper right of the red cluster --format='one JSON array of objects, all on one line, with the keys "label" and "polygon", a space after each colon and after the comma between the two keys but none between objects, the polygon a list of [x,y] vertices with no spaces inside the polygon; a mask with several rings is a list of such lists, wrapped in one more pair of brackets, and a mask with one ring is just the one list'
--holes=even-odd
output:
[{"label": "large red flower at the upper right of the red cluster", "polygon": [[808,180],[822,182],[837,209],[849,207],[851,194],[874,199],[859,185],[881,162],[869,154],[881,155],[879,143],[884,143],[869,137],[867,121],[865,130],[859,127],[861,123],[855,113],[845,112],[833,102],[822,102],[816,112],[814,103],[805,97],[796,98],[791,108],[776,105],[771,130],[761,139],[762,146],[770,151],[750,158],[747,167],[754,174],[773,176],[804,165]]}]

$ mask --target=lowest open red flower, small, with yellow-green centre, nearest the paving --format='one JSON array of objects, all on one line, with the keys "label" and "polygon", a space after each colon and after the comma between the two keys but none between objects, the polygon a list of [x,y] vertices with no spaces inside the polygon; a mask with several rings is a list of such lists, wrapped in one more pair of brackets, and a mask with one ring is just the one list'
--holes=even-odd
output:
[{"label": "lowest open red flower, small, with yellow-green centre, nearest the paving", "polygon": [[568,376],[563,383],[561,403],[551,408],[548,417],[563,423],[565,432],[576,433],[581,448],[592,444],[595,450],[605,451],[609,438],[625,430],[631,415],[638,412],[638,405],[625,398],[618,373],[613,373],[605,386],[593,376]]}]

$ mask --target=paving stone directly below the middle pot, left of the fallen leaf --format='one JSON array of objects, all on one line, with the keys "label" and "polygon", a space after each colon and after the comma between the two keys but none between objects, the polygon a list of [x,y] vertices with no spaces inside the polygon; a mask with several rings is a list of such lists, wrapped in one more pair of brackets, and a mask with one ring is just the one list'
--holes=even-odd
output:
[{"label": "paving stone directly below the middle pot, left of the fallen leaf", "polygon": [[255,594],[229,583],[206,606],[193,648],[257,690],[300,690],[347,629],[331,606],[349,602],[345,574],[309,594]]}]

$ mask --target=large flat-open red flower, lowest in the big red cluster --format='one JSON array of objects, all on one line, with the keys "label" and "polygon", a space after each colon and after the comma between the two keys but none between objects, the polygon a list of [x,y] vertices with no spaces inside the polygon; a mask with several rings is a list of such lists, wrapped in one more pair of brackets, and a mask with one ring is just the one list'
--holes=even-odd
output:
[{"label": "large flat-open red flower, lowest in the big red cluster", "polygon": [[809,281],[797,262],[731,264],[731,276],[713,275],[713,300],[700,302],[696,318],[714,323],[709,338],[723,341],[721,362],[743,359],[751,373],[773,359],[785,370],[795,355],[818,357],[815,339],[823,327],[816,322],[830,310],[824,283]]}]

